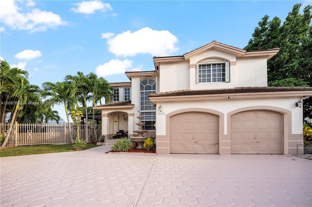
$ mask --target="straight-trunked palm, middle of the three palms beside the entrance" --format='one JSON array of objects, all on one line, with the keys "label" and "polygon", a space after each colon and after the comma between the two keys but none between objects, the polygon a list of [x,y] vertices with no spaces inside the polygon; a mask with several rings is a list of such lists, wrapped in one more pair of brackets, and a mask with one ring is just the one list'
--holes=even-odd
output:
[{"label": "straight-trunked palm, middle of the three palms beside the entrance", "polygon": [[[73,84],[77,87],[77,100],[80,100],[85,107],[85,114],[86,114],[86,122],[85,122],[85,136],[86,142],[89,142],[89,127],[88,127],[88,106],[87,106],[87,96],[91,92],[90,91],[90,80],[87,76],[83,74],[83,72],[78,71],[77,75],[66,75],[65,80],[72,81]],[[78,108],[78,106],[77,106]]]}]

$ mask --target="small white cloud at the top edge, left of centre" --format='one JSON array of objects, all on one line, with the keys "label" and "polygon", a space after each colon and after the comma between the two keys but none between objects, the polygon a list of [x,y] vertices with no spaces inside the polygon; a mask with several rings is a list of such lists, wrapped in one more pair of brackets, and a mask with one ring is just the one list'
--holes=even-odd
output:
[{"label": "small white cloud at the top edge, left of centre", "polygon": [[109,3],[102,3],[101,1],[82,1],[80,3],[74,3],[77,8],[71,8],[72,11],[83,14],[94,14],[97,10],[101,12],[107,12],[113,10]]}]

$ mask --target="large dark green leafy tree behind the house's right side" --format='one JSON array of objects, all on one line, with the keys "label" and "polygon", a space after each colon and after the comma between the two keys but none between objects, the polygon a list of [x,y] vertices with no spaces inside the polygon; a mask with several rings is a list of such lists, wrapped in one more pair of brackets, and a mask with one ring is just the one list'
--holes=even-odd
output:
[{"label": "large dark green leafy tree behind the house's right side", "polygon": [[[307,5],[300,14],[301,6],[300,3],[295,4],[282,25],[278,17],[268,21],[269,16],[264,16],[245,47],[247,51],[280,49],[268,61],[271,86],[311,86],[312,6]],[[303,111],[304,117],[312,116],[312,98],[304,101]]]}]

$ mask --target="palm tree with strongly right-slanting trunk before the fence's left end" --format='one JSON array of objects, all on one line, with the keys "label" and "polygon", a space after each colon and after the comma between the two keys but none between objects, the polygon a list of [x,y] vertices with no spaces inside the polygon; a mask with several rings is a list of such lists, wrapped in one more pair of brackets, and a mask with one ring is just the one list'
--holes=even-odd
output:
[{"label": "palm tree with strongly right-slanting trunk before the fence's left end", "polygon": [[24,103],[27,103],[29,100],[29,97],[33,96],[36,92],[38,92],[38,86],[30,85],[27,79],[16,79],[13,81],[13,91],[12,97],[16,100],[16,105],[14,107],[14,112],[10,121],[10,126],[8,133],[1,145],[1,147],[4,147],[12,133],[12,128],[14,125],[14,122],[16,121],[17,115],[19,110],[23,109]]}]

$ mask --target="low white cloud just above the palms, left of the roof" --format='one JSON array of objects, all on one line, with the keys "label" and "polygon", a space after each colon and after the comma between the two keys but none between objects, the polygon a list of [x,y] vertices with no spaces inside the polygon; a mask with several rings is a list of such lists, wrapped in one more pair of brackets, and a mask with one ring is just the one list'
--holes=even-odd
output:
[{"label": "low white cloud just above the palms, left of the roof", "polygon": [[132,60],[110,60],[108,63],[99,65],[96,69],[96,74],[100,77],[122,74],[125,71],[132,71]]}]

